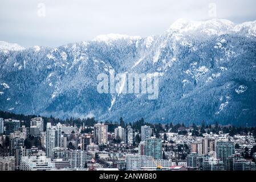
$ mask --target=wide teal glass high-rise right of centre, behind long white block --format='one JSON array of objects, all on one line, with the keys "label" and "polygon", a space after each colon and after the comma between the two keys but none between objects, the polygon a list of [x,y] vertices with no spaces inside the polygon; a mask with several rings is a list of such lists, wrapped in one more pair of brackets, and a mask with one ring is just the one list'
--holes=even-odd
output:
[{"label": "wide teal glass high-rise right of centre, behind long white block", "polygon": [[162,159],[162,140],[158,138],[145,139],[144,153],[156,160]]}]

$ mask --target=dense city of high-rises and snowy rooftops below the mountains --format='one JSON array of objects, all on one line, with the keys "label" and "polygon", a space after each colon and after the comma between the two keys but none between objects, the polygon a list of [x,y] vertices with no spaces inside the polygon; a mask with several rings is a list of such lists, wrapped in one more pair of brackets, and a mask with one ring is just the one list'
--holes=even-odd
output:
[{"label": "dense city of high-rises and snowy rooftops below the mountains", "polygon": [[256,127],[50,119],[0,118],[0,171],[256,170]]}]

